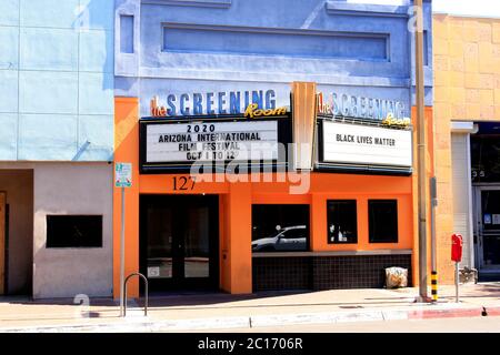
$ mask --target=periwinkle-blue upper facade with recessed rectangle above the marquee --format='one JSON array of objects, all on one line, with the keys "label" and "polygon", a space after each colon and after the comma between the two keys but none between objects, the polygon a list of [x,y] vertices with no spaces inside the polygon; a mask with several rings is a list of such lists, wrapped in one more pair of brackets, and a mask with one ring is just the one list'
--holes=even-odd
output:
[{"label": "periwinkle-blue upper facade with recessed rectangle above the marquee", "polygon": [[[149,101],[183,92],[273,89],[289,104],[291,81],[326,93],[412,104],[410,0],[117,0],[116,95]],[[424,1],[431,38],[431,2]],[[432,48],[426,103],[432,105]]]}]

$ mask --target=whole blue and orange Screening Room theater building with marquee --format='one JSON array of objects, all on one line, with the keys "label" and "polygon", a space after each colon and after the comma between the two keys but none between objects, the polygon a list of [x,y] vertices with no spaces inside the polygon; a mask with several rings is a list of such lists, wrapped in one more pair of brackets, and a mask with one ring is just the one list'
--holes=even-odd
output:
[{"label": "whole blue and orange Screening Room theater building with marquee", "polygon": [[[383,287],[399,266],[417,285],[411,2],[183,2],[116,6],[126,275],[244,294]],[[429,138],[431,13],[423,1]],[[114,189],[114,296],[120,226]]]}]

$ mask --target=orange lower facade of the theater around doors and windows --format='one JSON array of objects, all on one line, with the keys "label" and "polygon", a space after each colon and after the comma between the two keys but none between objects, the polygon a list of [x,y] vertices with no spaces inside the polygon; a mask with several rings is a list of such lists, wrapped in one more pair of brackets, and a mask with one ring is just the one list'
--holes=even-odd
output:
[{"label": "orange lower facade of the theater around doors and windows", "polygon": [[[291,91],[293,114],[288,120],[293,121],[293,141],[307,142],[310,138],[314,146],[313,152],[319,149],[317,135],[313,135],[319,120],[316,85],[313,83],[292,83]],[[409,173],[396,174],[346,173],[344,171],[338,173],[316,168],[310,171],[296,169],[287,172],[284,178],[279,178],[279,173],[274,172],[267,176],[270,181],[263,181],[263,174],[254,175],[254,180],[251,180],[250,174],[242,174],[239,175],[239,179],[243,181],[234,181],[238,175],[230,173],[201,175],[192,175],[189,172],[141,173],[139,112],[138,99],[116,98],[114,160],[116,162],[132,163],[132,186],[126,189],[126,275],[142,272],[148,274],[150,282],[154,283],[154,278],[164,271],[164,264],[163,266],[150,266],[152,264],[144,265],[143,261],[144,248],[148,248],[149,253],[149,246],[144,246],[143,239],[148,237],[146,234],[150,233],[144,230],[144,224],[154,222],[148,220],[148,216],[144,217],[144,213],[148,214],[148,212],[141,210],[149,209],[147,202],[143,201],[157,199],[158,205],[171,205],[173,210],[182,211],[181,214],[177,214],[177,216],[183,215],[180,217],[176,217],[174,213],[177,212],[171,212],[173,213],[172,220],[186,219],[186,214],[196,214],[187,209],[198,203],[214,211],[214,213],[207,214],[204,222],[199,223],[200,225],[204,223],[207,230],[211,231],[207,232],[208,237],[214,240],[211,243],[210,253],[208,247],[204,253],[204,257],[210,258],[209,262],[206,260],[210,266],[206,266],[206,271],[203,271],[197,270],[198,266],[192,266],[192,263],[189,264],[188,258],[196,262],[197,257],[196,255],[190,257],[187,246],[182,245],[183,254],[180,258],[176,258],[174,252],[167,255],[171,264],[167,266],[169,271],[163,275],[166,278],[172,278],[172,282],[158,283],[158,290],[169,291],[179,287],[198,290],[203,288],[198,287],[203,285],[204,288],[212,291],[246,294],[264,290],[382,287],[384,268],[390,266],[407,268],[409,283],[418,283],[417,173],[413,169],[410,168]],[[431,122],[432,110],[430,108],[426,111],[426,115]],[[257,120],[254,119],[254,121]],[[390,131],[387,128],[386,130]],[[432,124],[428,126],[428,130],[429,136],[432,136]],[[414,133],[414,131],[410,132],[413,141],[416,140]],[[416,144],[410,145],[410,149],[416,156]],[[432,143],[429,145],[429,151],[432,151]],[[304,155],[308,154],[302,153],[302,156]],[[430,158],[431,154],[428,155],[429,175],[432,172]],[[302,159],[301,162],[303,163],[304,160]],[[414,159],[412,163],[416,165]],[[246,179],[248,181],[244,181]],[[294,189],[296,192],[293,192]],[[114,296],[118,296],[121,222],[119,189],[114,189],[113,200],[113,290]],[[353,213],[354,242],[331,242],[330,235],[334,225],[330,224],[330,219],[334,219],[331,216],[334,214],[331,211],[334,211],[336,207],[332,210],[329,203],[334,204],[334,201],[352,202],[356,206]],[[396,216],[387,215],[386,217],[388,224],[391,224],[392,220],[396,221],[396,239],[388,242],[383,242],[383,239],[381,241],[372,240],[372,234],[377,233],[373,230],[376,227],[371,225],[376,223],[373,219],[386,223],[383,212],[377,214],[379,212],[372,206],[380,201],[393,202],[394,206],[390,211]],[[277,205],[303,206],[307,210],[306,216],[297,214],[297,219],[303,217],[304,224],[307,224],[308,236],[304,248],[259,250],[260,246],[256,244],[253,235],[254,231],[259,229],[256,224],[258,222],[254,221],[256,216],[264,215],[266,220],[268,214],[266,206]],[[287,214],[290,211],[283,207],[278,214]],[[269,217],[278,215],[276,213],[276,211],[269,211]],[[294,212],[290,213],[293,215]],[[346,217],[348,212],[343,213],[343,217]],[[163,214],[163,216],[166,215]],[[284,220],[287,219],[284,217]],[[198,223],[189,217],[186,221],[190,225]],[[170,222],[164,220],[162,223]],[[208,227],[208,223],[211,225],[210,227]],[[281,231],[287,232],[287,225],[277,225],[279,232],[280,227],[282,227]],[[181,226],[172,227],[168,232],[164,230],[161,232],[160,227],[153,233],[174,234],[176,231],[186,229],[186,224],[181,223]],[[203,234],[204,232],[198,230],[192,233]],[[389,232],[386,231],[386,233]],[[179,240],[173,236],[173,241]],[[182,243],[186,241],[186,237],[182,239]],[[266,239],[261,241],[266,241]],[[179,268],[176,263],[182,264],[182,266]],[[190,283],[189,273],[193,280],[199,282]],[[202,282],[203,277],[208,277],[206,280],[208,282]],[[133,281],[129,290],[131,290],[130,294],[138,295],[138,282]]]}]

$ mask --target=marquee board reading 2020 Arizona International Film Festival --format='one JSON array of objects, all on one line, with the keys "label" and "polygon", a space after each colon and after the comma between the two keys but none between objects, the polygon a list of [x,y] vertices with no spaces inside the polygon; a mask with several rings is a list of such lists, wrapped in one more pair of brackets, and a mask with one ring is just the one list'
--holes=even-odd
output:
[{"label": "marquee board reading 2020 Arizona International Film Festival", "polygon": [[151,120],[140,122],[141,173],[187,170],[192,164],[284,162],[279,143],[289,141],[289,115],[256,119]]}]

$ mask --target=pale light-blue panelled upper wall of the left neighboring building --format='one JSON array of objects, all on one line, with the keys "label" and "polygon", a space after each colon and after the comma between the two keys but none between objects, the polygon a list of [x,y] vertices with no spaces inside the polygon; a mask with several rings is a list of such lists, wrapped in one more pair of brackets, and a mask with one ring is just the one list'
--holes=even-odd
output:
[{"label": "pale light-blue panelled upper wall of the left neighboring building", "polygon": [[109,161],[114,0],[0,1],[0,160]]}]

